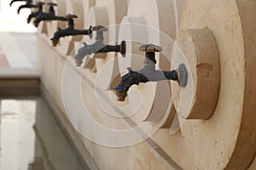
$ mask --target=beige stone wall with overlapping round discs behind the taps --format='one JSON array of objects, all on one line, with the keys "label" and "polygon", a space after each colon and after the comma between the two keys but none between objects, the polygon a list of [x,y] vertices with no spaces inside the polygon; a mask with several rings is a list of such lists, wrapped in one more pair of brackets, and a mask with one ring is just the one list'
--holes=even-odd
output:
[{"label": "beige stone wall with overlapping round discs behind the taps", "polygon": [[[114,53],[95,54],[87,58],[92,65],[75,67],[72,56],[82,47],[81,41],[94,42],[95,36],[62,38],[60,45],[52,48],[49,38],[58,26],[66,25],[50,21],[38,28],[42,85],[67,112],[70,120],[67,126],[76,128],[100,169],[247,169],[250,166],[256,150],[255,1],[60,0],[56,3],[57,14],[79,15],[75,20],[77,28],[108,26],[109,31],[104,33],[106,43],[126,41],[125,58]],[[177,69],[178,64],[184,63],[189,68],[188,86],[179,88],[177,82],[140,84],[131,88],[124,103],[117,102],[110,88],[125,74],[127,66],[134,70],[143,67],[143,53],[138,51],[143,43],[163,48],[157,54],[160,69]],[[210,50],[212,47],[215,49]],[[213,65],[210,67],[213,73],[208,67],[199,67],[202,64]],[[211,83],[207,82],[209,74],[213,77]],[[129,118],[118,118],[120,113]],[[135,132],[131,136],[125,136],[130,134],[125,131],[123,136],[113,133],[130,129],[134,123],[143,124],[147,140],[136,144],[142,137],[136,137]],[[183,126],[179,128],[177,124]],[[97,125],[114,130],[106,133]],[[123,143],[127,146],[120,147]],[[254,168],[255,163],[249,169]]]}]

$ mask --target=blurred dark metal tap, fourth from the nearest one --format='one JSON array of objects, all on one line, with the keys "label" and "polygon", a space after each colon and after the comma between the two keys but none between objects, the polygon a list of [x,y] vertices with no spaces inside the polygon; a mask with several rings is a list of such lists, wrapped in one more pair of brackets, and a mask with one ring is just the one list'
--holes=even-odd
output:
[{"label": "blurred dark metal tap, fourth from the nearest one", "polygon": [[67,21],[66,17],[64,16],[56,16],[54,6],[57,6],[56,3],[46,3],[49,5],[49,12],[48,13],[41,13],[36,17],[33,24],[34,26],[38,27],[41,21],[43,20],[64,20]]}]

